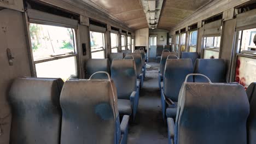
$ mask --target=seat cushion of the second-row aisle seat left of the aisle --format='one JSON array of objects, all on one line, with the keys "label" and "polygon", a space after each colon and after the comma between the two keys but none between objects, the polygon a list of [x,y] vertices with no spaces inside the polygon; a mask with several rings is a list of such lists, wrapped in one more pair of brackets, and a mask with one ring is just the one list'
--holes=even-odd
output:
[{"label": "seat cushion of the second-row aisle seat left of the aisle", "polygon": [[118,111],[121,115],[131,115],[131,101],[127,99],[118,99]]}]

